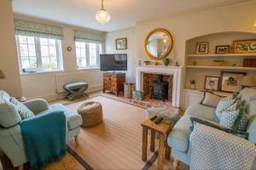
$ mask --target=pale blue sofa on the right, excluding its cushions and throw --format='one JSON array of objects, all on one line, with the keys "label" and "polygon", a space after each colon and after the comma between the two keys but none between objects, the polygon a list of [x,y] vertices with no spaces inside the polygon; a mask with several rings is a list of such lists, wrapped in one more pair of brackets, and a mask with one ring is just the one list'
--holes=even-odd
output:
[{"label": "pale blue sofa on the right, excluding its cushions and throw", "polygon": [[[241,99],[246,101],[247,113],[250,114],[250,122],[247,127],[249,140],[256,144],[256,89],[243,88],[240,92]],[[218,117],[215,116],[215,108],[205,105],[191,105],[184,113],[184,116],[172,128],[169,134],[167,143],[172,147],[172,157],[175,160],[183,161],[187,165],[190,164],[190,144],[189,135],[191,133],[190,117],[199,117],[212,122],[218,122]],[[174,167],[177,166],[177,161],[174,161]],[[256,158],[253,162],[253,169],[256,169]]]}]

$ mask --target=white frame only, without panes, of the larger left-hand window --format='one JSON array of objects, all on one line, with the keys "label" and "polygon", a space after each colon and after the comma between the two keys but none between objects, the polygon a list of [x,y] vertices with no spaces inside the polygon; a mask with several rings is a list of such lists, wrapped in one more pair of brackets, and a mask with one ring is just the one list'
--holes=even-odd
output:
[{"label": "white frame only, without panes, of the larger left-hand window", "polygon": [[[38,63],[37,63],[38,64],[38,68],[22,68],[19,36],[20,35],[15,35],[16,45],[17,45],[17,54],[18,54],[18,59],[19,59],[20,73],[30,72],[30,71],[32,71],[32,72],[39,72],[39,71],[63,71],[61,40],[55,39],[57,68],[51,69],[51,68],[44,68],[43,67],[42,55],[41,55],[40,37],[34,37],[35,49],[36,49],[36,58],[37,58],[37,61],[38,61]],[[26,36],[26,37],[33,37],[33,36]],[[54,39],[54,38],[47,38],[47,39]],[[23,69],[25,69],[26,71],[23,71]]]}]

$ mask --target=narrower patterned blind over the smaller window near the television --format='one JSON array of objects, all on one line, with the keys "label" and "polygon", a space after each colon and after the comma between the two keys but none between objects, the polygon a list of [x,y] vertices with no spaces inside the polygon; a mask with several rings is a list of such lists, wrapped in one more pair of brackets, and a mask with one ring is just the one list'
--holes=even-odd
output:
[{"label": "narrower patterned blind over the smaller window near the television", "polygon": [[104,35],[100,34],[91,34],[84,31],[74,31],[75,41],[76,42],[104,42]]}]

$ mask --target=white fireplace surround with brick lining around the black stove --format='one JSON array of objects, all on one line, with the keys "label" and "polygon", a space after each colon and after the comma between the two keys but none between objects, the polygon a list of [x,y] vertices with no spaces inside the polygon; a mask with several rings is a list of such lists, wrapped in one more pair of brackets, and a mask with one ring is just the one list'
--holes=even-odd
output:
[{"label": "white fireplace surround with brick lining around the black stove", "polygon": [[[143,91],[144,94],[151,94],[151,83],[146,81],[145,76],[157,77],[157,75],[163,75],[163,81],[171,81],[168,86],[168,101],[172,102],[172,106],[180,106],[181,95],[181,76],[183,73],[182,66],[162,66],[162,65],[141,65],[136,68],[136,89]],[[169,77],[169,78],[168,78]],[[166,79],[167,78],[167,79]],[[157,80],[157,78],[155,79]],[[155,81],[154,80],[154,81]],[[149,88],[148,88],[149,87]]]}]

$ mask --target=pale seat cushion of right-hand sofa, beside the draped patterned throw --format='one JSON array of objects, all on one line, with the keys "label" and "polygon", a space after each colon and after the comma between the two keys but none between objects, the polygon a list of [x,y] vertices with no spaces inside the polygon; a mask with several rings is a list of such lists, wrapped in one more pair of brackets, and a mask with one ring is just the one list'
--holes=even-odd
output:
[{"label": "pale seat cushion of right-hand sofa, beside the draped patterned throw", "polygon": [[206,105],[190,105],[185,111],[185,115],[195,116],[202,119],[207,119],[212,122],[218,122],[218,117],[214,114],[215,108]]}]

